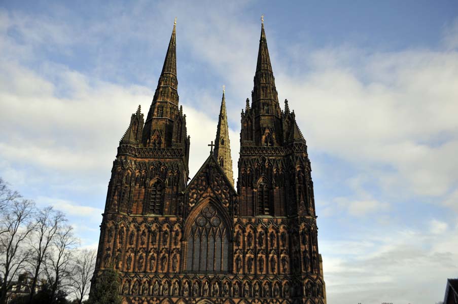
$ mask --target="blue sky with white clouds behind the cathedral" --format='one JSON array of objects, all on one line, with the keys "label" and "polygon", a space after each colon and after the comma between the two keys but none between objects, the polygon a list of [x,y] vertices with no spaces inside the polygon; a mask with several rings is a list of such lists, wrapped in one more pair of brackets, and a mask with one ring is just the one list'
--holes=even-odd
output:
[{"label": "blue sky with white clouds behind the cathedral", "polygon": [[222,85],[236,166],[261,14],[309,147],[328,303],[442,300],[458,276],[455,0],[3,1],[0,176],[95,247],[117,145],[138,104],[146,115],[175,16],[190,175]]}]

